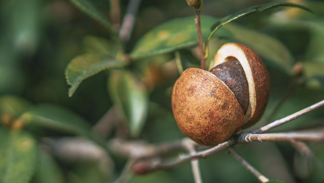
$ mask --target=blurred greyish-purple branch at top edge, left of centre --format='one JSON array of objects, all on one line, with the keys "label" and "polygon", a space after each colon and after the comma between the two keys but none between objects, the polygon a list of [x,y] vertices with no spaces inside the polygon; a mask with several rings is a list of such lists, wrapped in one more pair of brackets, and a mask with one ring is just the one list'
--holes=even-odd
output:
[{"label": "blurred greyish-purple branch at top edge, left of centre", "polygon": [[119,31],[119,36],[123,41],[128,41],[133,31],[135,16],[141,0],[130,0],[127,6],[126,15],[124,16]]}]

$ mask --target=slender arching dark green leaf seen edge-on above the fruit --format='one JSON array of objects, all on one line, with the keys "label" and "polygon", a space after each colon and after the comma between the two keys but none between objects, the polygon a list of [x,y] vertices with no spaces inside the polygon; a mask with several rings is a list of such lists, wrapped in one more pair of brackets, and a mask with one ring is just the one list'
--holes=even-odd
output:
[{"label": "slender arching dark green leaf seen edge-on above the fruit", "polygon": [[243,9],[237,13],[233,13],[230,14],[224,18],[222,18],[221,20],[217,21],[212,27],[211,27],[211,33],[209,34],[206,42],[205,42],[205,57],[208,57],[208,42],[209,40],[212,38],[213,34],[215,33],[215,31],[217,31],[221,26],[237,19],[240,18],[242,16],[251,14],[251,13],[255,13],[255,12],[261,12],[264,11],[266,9],[270,9],[273,7],[278,7],[278,6],[291,6],[291,7],[298,7],[298,8],[302,8],[304,10],[310,11],[312,12],[310,9],[308,9],[305,6],[302,5],[297,5],[294,3],[287,3],[287,2],[272,2],[272,3],[267,3],[264,5],[257,5],[257,6],[251,6],[249,8]]}]

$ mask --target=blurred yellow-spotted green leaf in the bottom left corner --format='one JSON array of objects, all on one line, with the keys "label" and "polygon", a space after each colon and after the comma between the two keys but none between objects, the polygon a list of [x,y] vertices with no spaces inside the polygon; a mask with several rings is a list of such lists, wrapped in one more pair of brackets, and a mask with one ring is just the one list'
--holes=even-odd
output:
[{"label": "blurred yellow-spotted green leaf in the bottom left corner", "polygon": [[27,183],[37,162],[38,148],[26,132],[0,128],[0,182]]}]

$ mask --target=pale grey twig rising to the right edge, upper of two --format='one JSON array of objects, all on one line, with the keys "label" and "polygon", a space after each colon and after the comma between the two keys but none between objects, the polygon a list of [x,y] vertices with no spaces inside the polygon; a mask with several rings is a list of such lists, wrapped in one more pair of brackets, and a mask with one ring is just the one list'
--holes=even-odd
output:
[{"label": "pale grey twig rising to the right edge, upper of two", "polygon": [[285,123],[287,123],[287,122],[289,122],[291,120],[294,120],[294,119],[296,119],[296,118],[298,118],[300,116],[303,116],[303,115],[305,115],[305,114],[307,114],[307,113],[309,113],[309,112],[311,112],[311,111],[313,111],[313,110],[315,110],[315,109],[317,109],[317,108],[319,108],[319,107],[321,107],[323,105],[324,105],[324,100],[322,100],[322,101],[320,101],[320,102],[318,102],[316,104],[313,104],[313,105],[311,105],[311,106],[309,106],[309,107],[307,107],[307,108],[305,108],[303,110],[300,110],[300,111],[298,111],[298,112],[296,112],[296,113],[294,113],[292,115],[289,115],[289,116],[286,116],[286,117],[284,117],[282,119],[276,120],[276,121],[274,121],[274,122],[272,122],[272,123],[270,123],[270,124],[268,124],[268,125],[266,125],[264,127],[258,128],[256,130],[254,130],[252,133],[266,132],[266,131],[268,131],[268,130],[270,130],[272,128],[278,127],[278,126],[280,126],[282,124],[285,124]]}]

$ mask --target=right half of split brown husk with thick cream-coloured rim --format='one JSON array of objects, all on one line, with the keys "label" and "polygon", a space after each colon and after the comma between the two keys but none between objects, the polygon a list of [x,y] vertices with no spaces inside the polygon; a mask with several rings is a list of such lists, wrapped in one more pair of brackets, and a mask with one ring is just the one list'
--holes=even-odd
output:
[{"label": "right half of split brown husk with thick cream-coloured rim", "polygon": [[255,124],[262,116],[269,100],[270,77],[260,57],[247,46],[238,43],[224,44],[214,56],[210,68],[235,58],[241,64],[249,83],[249,106],[242,129]]}]

